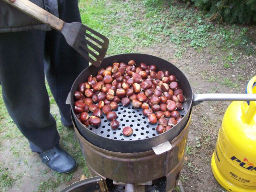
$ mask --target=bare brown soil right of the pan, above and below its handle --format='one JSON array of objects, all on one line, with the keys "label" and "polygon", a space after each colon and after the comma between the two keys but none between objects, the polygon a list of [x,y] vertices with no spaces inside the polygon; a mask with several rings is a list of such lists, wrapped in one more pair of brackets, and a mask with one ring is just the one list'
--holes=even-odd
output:
[{"label": "bare brown soil right of the pan, above and below its handle", "polygon": [[[174,58],[174,45],[167,43],[161,47],[139,50],[159,56],[180,68],[188,78],[194,94],[196,93],[244,93],[246,84],[256,74],[256,58],[239,54],[236,66],[223,67],[222,53],[212,54],[203,51],[197,53],[190,49],[182,59]],[[212,62],[213,58],[214,62]],[[218,58],[218,59],[217,59]],[[239,67],[246,66],[246,67]],[[214,80],[214,77],[217,80]],[[240,77],[240,79],[238,79]],[[241,78],[242,77],[242,78]],[[211,79],[213,78],[213,80]],[[230,84],[224,84],[228,78]],[[236,84],[238,83],[238,86]],[[188,135],[182,185],[186,192],[224,192],[224,188],[215,180],[211,170],[211,158],[214,152],[218,130],[224,112],[230,102],[203,102],[192,109],[192,121]],[[198,140],[196,140],[198,138]],[[200,146],[196,145],[200,142]]]}]

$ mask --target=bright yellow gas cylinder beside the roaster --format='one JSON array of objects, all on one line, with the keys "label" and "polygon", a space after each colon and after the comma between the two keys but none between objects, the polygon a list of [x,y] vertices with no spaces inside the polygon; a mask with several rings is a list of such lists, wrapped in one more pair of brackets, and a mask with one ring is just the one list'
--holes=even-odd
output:
[{"label": "bright yellow gas cylinder beside the roaster", "polygon": [[[247,93],[256,93],[256,76]],[[230,192],[256,192],[256,101],[234,101],[228,106],[220,128],[212,172]]]}]

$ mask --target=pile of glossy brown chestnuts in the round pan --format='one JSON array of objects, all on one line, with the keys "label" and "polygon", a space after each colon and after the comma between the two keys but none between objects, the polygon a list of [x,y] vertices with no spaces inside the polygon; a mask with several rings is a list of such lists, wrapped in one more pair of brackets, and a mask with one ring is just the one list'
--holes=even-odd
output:
[{"label": "pile of glossy brown chestnuts in the round pan", "polygon": [[[128,64],[114,63],[100,69],[95,77],[90,75],[86,82],[78,86],[74,97],[74,112],[85,126],[100,125],[100,116],[104,113],[115,130],[120,122],[112,110],[118,109],[118,103],[123,106],[132,103],[134,108],[143,109],[144,116],[148,116],[151,124],[158,123],[158,134],[180,122],[182,117],[178,110],[183,109],[182,103],[186,100],[176,76],[168,71],[157,72],[154,64],[137,65],[134,60]],[[124,127],[122,132],[124,136],[130,136],[133,130]]]}]

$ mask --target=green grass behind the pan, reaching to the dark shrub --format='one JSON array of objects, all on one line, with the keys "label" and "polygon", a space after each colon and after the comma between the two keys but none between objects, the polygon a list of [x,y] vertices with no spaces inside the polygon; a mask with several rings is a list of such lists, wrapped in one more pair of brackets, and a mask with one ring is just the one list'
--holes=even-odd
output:
[{"label": "green grass behind the pan, reaching to the dark shrub", "polygon": [[255,53],[253,46],[248,48],[246,28],[208,22],[202,12],[194,13],[182,3],[81,0],[80,12],[84,24],[110,39],[108,55],[137,52],[168,40],[176,45],[176,58],[182,58],[187,48],[201,52],[207,47],[224,51],[239,47]]}]

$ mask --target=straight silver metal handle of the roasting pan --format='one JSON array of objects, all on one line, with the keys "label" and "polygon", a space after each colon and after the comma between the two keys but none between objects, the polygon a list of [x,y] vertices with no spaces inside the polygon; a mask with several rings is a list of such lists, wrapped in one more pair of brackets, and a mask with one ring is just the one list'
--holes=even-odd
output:
[{"label": "straight silver metal handle of the roasting pan", "polygon": [[207,93],[193,95],[193,106],[203,101],[256,101],[256,94]]}]

